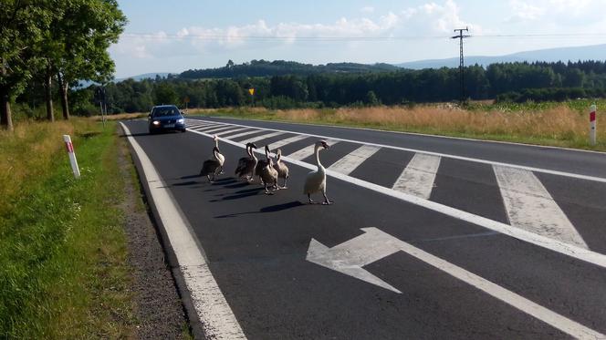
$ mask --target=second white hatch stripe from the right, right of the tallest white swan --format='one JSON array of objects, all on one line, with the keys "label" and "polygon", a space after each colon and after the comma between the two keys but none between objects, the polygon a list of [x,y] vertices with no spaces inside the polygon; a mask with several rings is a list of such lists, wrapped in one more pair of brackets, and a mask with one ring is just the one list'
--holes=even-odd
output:
[{"label": "second white hatch stripe from the right, right of the tallest white swan", "polygon": [[435,174],[440,167],[440,157],[416,153],[402,175],[393,184],[394,191],[402,191],[429,200],[434,189]]}]

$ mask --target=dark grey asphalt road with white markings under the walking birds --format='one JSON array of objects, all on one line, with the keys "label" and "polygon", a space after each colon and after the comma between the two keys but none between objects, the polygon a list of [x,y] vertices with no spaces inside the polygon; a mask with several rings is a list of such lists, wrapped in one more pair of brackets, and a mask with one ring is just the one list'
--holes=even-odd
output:
[{"label": "dark grey asphalt road with white markings under the walking birds", "polygon": [[[604,154],[225,118],[162,135],[146,124],[125,122],[250,339],[606,334]],[[225,174],[208,183],[198,173],[215,133]],[[281,147],[288,160],[319,139],[307,135],[333,145],[320,153],[342,173],[328,177],[333,205],[302,193],[310,153],[287,163],[288,189],[274,195],[235,180],[240,141],[300,136]]]}]

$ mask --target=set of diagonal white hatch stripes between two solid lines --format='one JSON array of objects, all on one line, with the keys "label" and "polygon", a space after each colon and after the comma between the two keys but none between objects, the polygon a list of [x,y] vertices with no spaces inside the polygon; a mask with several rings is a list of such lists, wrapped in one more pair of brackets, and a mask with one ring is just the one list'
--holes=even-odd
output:
[{"label": "set of diagonal white hatch stripes between two solid lines", "polygon": [[[260,129],[255,127],[246,127],[235,124],[224,124],[215,122],[204,122],[196,119],[188,119],[188,129],[196,131],[217,134],[221,133],[225,139],[231,139],[238,143],[263,142],[267,139],[275,139],[287,135],[285,131],[273,129]],[[240,132],[243,131],[243,132]],[[234,132],[238,132],[233,134]],[[288,133],[295,133],[290,132]],[[257,134],[255,137],[241,139],[248,135]],[[296,133],[295,136],[273,141],[271,149],[277,149],[314,137],[306,134]],[[330,146],[337,143],[345,143],[341,139],[328,139]],[[344,155],[340,160],[329,166],[329,170],[334,170],[343,175],[350,175],[362,163],[369,160],[382,148],[376,145],[362,144],[359,148]],[[313,154],[314,144],[312,142],[302,149],[284,154],[285,160],[305,160]],[[402,153],[410,152],[403,151]],[[403,159],[403,157],[402,157]],[[432,201],[432,193],[440,190],[435,186],[435,178],[440,170],[441,156],[431,153],[415,152],[410,161],[404,164],[402,161],[402,170],[399,173],[390,173],[386,176],[392,176],[393,191],[401,191],[423,200]],[[310,161],[312,162],[312,161]],[[488,165],[486,165],[488,166]],[[521,167],[506,166],[501,164],[491,164],[494,173],[494,185],[500,192],[500,201],[507,214],[508,224],[534,232],[538,235],[549,237],[560,242],[566,242],[584,249],[590,249],[587,242],[576,229],[573,222],[569,220],[567,213],[561,209],[558,202],[551,197],[549,190],[541,183],[537,176],[531,170],[519,169]],[[360,180],[366,180],[363,174],[356,175]],[[461,199],[465,200],[465,192],[460,193]]]}]

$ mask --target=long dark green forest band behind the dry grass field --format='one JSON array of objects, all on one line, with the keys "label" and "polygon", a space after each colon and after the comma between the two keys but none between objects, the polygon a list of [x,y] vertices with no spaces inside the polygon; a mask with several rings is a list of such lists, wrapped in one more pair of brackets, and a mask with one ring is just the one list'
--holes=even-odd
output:
[{"label": "long dark green forest band behind the dry grass field", "polygon": [[[289,62],[298,72],[302,67]],[[248,66],[253,66],[250,63]],[[279,63],[284,67],[284,62]],[[225,72],[233,65],[216,70]],[[242,70],[246,65],[239,66]],[[254,68],[258,70],[258,68]],[[297,75],[193,79],[186,71],[166,78],[123,80],[106,85],[110,113],[145,112],[153,105],[175,103],[182,108],[262,106],[266,108],[322,108],[340,106],[406,105],[460,99],[458,68],[423,70],[311,70]],[[251,96],[248,89],[255,88]],[[77,114],[99,111],[96,87],[71,95]],[[497,101],[562,101],[606,97],[606,62],[505,63],[465,67],[465,99]],[[25,100],[22,97],[21,100]],[[41,98],[28,98],[32,105]]]}]

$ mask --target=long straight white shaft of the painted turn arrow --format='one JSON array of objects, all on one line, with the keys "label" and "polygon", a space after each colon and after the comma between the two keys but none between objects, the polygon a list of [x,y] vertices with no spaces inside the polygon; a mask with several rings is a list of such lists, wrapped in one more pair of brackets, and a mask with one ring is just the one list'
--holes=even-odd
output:
[{"label": "long straight white shaft of the painted turn arrow", "polygon": [[475,273],[468,272],[453,263],[448,263],[429,252],[424,252],[410,243],[400,241],[399,246],[403,252],[413,255],[424,263],[428,263],[445,273],[449,273],[465,283],[473,285],[482,292],[496,297],[504,303],[509,304],[568,335],[578,339],[603,339],[606,336],[584,325],[580,325],[576,321],[570,320],[563,315],[552,312],[542,305],[536,304],[519,294],[508,291],[506,288],[503,288],[496,283],[492,283]]}]

